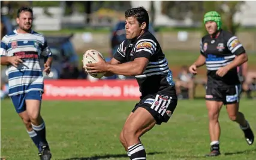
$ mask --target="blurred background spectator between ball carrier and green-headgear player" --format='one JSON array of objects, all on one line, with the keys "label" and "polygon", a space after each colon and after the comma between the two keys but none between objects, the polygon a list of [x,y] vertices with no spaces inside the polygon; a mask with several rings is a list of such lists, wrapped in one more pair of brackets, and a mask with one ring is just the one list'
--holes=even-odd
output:
[{"label": "blurred background spectator between ball carrier and green-headgear player", "polygon": [[188,66],[182,66],[175,86],[179,99],[186,98],[186,96],[182,94],[182,91],[188,91],[189,99],[194,99],[194,78],[193,75],[188,72]]}]

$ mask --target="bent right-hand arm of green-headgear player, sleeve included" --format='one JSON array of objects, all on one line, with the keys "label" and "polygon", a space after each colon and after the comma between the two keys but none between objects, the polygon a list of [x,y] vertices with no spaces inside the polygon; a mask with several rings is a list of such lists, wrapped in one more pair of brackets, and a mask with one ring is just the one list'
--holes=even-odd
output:
[{"label": "bent right-hand arm of green-headgear player, sleeve included", "polygon": [[231,51],[231,53],[236,55],[236,58],[226,66],[228,70],[240,66],[248,61],[248,56],[245,52],[245,48],[243,48],[243,45],[239,42],[236,36],[232,36],[230,39],[228,39],[227,47],[228,50]]}]

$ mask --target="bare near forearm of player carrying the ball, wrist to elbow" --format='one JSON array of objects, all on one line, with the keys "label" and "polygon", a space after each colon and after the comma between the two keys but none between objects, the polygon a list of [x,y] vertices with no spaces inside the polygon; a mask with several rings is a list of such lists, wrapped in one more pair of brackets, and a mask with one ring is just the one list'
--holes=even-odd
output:
[{"label": "bare near forearm of player carrying the ball, wrist to elbow", "polygon": [[107,72],[115,73],[118,75],[124,76],[135,76],[141,75],[143,73],[143,69],[133,61],[122,63],[122,64],[108,64],[107,65]]}]

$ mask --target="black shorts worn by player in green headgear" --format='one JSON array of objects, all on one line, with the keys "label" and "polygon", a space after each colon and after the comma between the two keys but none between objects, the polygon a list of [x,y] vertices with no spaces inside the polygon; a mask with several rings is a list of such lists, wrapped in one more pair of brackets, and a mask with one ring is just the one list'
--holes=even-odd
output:
[{"label": "black shorts worn by player in green headgear", "polygon": [[241,85],[227,88],[206,87],[206,100],[222,101],[224,104],[239,102]]}]

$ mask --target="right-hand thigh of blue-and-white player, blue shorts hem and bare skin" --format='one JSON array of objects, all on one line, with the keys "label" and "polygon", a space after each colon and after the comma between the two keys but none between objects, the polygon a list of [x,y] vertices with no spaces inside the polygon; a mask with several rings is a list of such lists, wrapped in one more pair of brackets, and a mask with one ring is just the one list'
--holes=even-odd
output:
[{"label": "right-hand thigh of blue-and-white player, blue shorts hem and bare skin", "polygon": [[41,91],[30,91],[26,93],[26,110],[31,119],[37,119],[40,115],[42,93]]}]

